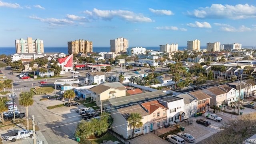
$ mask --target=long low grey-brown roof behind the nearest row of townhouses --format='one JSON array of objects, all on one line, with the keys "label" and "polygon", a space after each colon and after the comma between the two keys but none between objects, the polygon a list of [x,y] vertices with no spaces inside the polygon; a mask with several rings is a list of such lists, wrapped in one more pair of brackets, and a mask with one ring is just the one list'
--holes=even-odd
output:
[{"label": "long low grey-brown roof behind the nearest row of townhouses", "polygon": [[166,93],[164,93],[162,90],[156,90],[153,92],[146,92],[142,94],[134,94],[131,96],[122,96],[118,98],[112,98],[112,99],[108,99],[107,101],[110,102],[110,104],[114,108],[121,108],[121,107],[142,103],[148,100],[163,98],[164,96],[166,96]]}]

